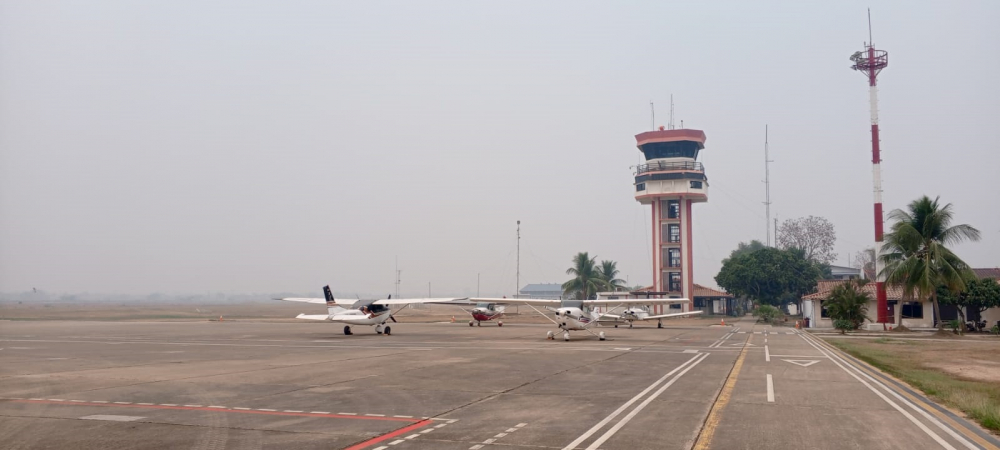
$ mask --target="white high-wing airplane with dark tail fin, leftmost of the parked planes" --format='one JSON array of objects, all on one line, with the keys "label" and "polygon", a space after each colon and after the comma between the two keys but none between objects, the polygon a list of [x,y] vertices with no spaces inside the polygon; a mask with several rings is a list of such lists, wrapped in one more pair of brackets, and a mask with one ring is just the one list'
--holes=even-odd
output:
[{"label": "white high-wing airplane with dark tail fin, leftmost of the parked planes", "polygon": [[[396,321],[393,314],[401,311],[409,305],[416,303],[448,303],[455,300],[465,300],[463,298],[397,298],[393,299],[390,295],[386,299],[378,300],[337,300],[333,298],[333,292],[330,291],[330,286],[323,287],[323,294],[326,298],[303,298],[303,297],[285,297],[276,298],[275,300],[281,300],[286,302],[301,302],[301,303],[319,303],[326,304],[327,314],[299,314],[296,319],[306,319],[306,320],[322,320],[326,322],[337,322],[343,323],[344,334],[352,335],[351,325],[374,325],[375,333],[382,334],[385,333],[389,335],[392,328],[386,325],[386,322],[392,320]],[[392,310],[393,306],[400,306],[395,311]]]}]

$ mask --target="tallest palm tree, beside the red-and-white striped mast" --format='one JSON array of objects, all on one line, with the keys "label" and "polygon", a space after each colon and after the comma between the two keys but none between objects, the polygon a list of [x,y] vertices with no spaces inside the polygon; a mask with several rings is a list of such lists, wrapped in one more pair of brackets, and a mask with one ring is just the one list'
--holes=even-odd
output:
[{"label": "tallest palm tree, beside the red-and-white striped mast", "polygon": [[951,225],[951,203],[941,206],[938,199],[925,195],[910,202],[906,211],[889,213],[895,223],[885,235],[879,259],[885,266],[880,275],[886,283],[902,287],[905,298],[923,301],[929,297],[934,305],[934,320],[943,328],[937,287],[961,291],[969,276],[968,264],[946,245],[966,239],[978,241],[979,230],[966,224]]}]

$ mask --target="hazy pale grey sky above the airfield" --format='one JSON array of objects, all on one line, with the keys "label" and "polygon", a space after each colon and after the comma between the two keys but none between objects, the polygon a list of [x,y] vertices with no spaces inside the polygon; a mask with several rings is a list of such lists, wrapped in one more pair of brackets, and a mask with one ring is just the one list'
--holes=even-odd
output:
[{"label": "hazy pale grey sky above the airfield", "polygon": [[1000,265],[1000,2],[0,3],[0,291],[483,295],[570,258],[651,281],[634,135],[706,132],[695,282],[772,215],[838,263],[940,195]]}]

